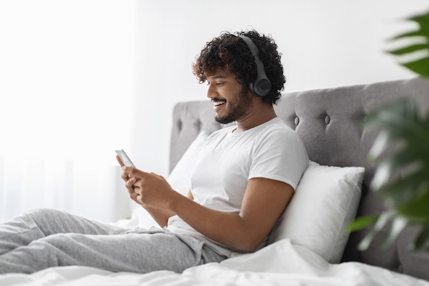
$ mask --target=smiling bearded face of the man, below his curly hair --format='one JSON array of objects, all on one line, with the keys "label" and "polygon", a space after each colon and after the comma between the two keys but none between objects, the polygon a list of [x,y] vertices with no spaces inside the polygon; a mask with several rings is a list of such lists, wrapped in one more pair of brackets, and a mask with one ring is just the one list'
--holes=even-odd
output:
[{"label": "smiling bearded face of the man, below his curly hair", "polygon": [[216,121],[230,123],[241,121],[252,109],[252,97],[249,89],[236,80],[236,75],[226,71],[207,76],[207,97],[214,104]]}]

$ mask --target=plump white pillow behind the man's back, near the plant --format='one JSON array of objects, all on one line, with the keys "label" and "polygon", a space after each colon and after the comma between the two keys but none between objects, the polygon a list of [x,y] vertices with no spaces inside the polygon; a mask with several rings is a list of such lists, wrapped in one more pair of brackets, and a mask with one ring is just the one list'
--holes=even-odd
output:
[{"label": "plump white pillow behind the man's back, near the plant", "polygon": [[268,243],[289,238],[330,263],[339,263],[356,217],[363,167],[330,167],[310,161]]}]

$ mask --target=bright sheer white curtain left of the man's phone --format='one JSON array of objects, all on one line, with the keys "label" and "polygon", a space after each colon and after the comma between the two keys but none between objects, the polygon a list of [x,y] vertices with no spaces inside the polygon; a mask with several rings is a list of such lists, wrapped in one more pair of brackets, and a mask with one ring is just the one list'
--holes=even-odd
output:
[{"label": "bright sheer white curtain left of the man's phone", "polygon": [[0,1],[0,222],[51,207],[103,222],[130,204],[134,1]]}]

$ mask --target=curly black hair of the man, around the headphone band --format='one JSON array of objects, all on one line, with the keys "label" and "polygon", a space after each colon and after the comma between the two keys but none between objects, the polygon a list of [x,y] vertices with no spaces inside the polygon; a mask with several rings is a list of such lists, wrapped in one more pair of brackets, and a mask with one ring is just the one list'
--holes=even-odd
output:
[{"label": "curly black hair of the man, around the headphone band", "polygon": [[256,63],[252,52],[245,41],[239,38],[244,35],[252,39],[259,50],[259,57],[265,67],[267,78],[271,81],[271,91],[262,100],[275,104],[280,99],[286,78],[283,75],[281,53],[277,51],[271,36],[260,35],[255,30],[248,32],[223,32],[217,38],[206,43],[204,49],[192,64],[193,74],[199,83],[206,82],[207,76],[218,71],[229,71],[236,74],[236,80],[249,86],[257,77]]}]

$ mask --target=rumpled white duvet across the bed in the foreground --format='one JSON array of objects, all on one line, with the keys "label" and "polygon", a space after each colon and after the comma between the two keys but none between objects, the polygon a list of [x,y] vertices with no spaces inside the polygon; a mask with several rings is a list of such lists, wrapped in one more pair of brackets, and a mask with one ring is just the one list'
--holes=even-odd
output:
[{"label": "rumpled white duvet across the bed in the foreground", "polygon": [[0,275],[0,285],[429,286],[429,282],[363,263],[330,264],[314,252],[284,239],[253,254],[239,254],[221,263],[192,267],[182,274],[169,271],[113,273],[91,267],[53,267],[34,274]]}]

